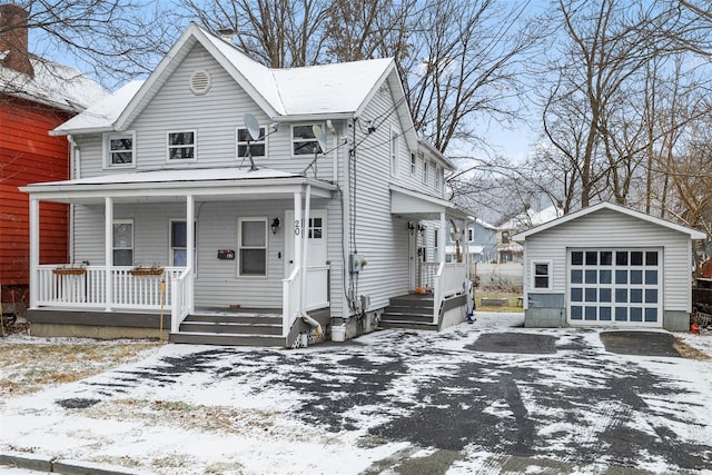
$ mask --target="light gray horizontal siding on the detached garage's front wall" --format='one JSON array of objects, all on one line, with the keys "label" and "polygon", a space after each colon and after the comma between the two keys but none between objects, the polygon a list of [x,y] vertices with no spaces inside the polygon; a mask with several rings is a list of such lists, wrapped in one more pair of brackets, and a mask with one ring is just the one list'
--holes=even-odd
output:
[{"label": "light gray horizontal siding on the detached garage's front wall", "polygon": [[[643,219],[600,210],[526,236],[524,288],[532,289],[532,265],[551,261],[551,288],[536,294],[566,296],[572,249],[662,249],[662,310],[691,310],[691,239],[689,234]],[[525,305],[527,299],[525,298]]]}]

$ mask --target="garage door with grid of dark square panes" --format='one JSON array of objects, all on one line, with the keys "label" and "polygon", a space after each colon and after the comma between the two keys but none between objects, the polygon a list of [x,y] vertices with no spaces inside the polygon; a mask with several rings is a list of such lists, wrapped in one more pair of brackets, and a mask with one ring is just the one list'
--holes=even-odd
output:
[{"label": "garage door with grid of dark square panes", "polygon": [[571,249],[572,325],[662,326],[662,249]]}]

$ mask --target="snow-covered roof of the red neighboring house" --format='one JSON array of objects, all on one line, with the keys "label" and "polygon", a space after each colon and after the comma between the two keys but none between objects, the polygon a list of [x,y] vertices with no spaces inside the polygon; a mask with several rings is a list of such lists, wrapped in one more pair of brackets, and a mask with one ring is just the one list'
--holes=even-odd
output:
[{"label": "snow-covered roof of the red neighboring house", "polygon": [[69,112],[81,112],[108,92],[81,71],[30,56],[34,76],[0,66],[0,92]]}]

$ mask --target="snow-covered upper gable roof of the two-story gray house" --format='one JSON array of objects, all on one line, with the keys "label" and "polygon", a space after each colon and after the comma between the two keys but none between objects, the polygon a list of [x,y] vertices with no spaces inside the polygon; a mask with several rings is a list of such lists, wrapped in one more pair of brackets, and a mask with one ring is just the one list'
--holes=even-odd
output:
[{"label": "snow-covered upper gable roof of the two-story gray house", "polygon": [[[118,96],[125,102],[111,101],[111,109],[102,109],[101,113],[107,119],[103,126],[109,126],[108,130],[128,128],[197,44],[205,48],[275,121],[357,117],[382,85],[387,83],[400,120],[406,120],[404,133],[407,135],[408,144],[413,149],[417,147],[407,106],[405,113],[402,110],[405,92],[392,58],[270,69],[195,23],[190,23],[134,95],[125,96],[119,91],[121,95]],[[55,133],[95,131],[97,126],[93,118],[86,121],[78,119],[57,128]]]}]

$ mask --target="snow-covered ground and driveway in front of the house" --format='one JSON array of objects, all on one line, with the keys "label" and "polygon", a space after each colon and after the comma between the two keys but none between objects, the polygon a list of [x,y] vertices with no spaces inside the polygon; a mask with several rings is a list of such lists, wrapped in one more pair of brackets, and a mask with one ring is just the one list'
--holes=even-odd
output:
[{"label": "snow-covered ground and driveway in front of the house", "polygon": [[[710,360],[606,353],[600,330],[522,318],[296,350],[156,346],[0,402],[0,452],[159,474],[712,474]],[[712,355],[712,335],[679,336]]]}]

